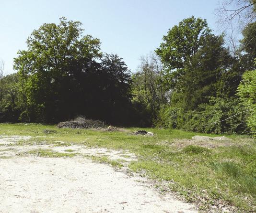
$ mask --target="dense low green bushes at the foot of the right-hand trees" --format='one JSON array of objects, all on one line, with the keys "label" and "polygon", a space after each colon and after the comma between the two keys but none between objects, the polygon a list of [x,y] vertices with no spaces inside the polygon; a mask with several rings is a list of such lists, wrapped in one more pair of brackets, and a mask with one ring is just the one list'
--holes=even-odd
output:
[{"label": "dense low green bushes at the foot of the right-hand trees", "polygon": [[[165,106],[159,111],[156,125],[163,128],[179,128],[205,133],[246,133],[246,113],[240,113],[244,106],[236,98],[209,98],[209,104],[198,106],[198,110],[185,111],[179,107]],[[225,121],[220,122],[228,117]]]}]

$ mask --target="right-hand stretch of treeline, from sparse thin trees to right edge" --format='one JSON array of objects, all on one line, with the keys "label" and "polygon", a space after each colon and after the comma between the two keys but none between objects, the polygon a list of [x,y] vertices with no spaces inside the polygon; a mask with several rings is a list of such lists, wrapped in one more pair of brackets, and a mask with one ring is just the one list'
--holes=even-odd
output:
[{"label": "right-hand stretch of treeline, from sparse thin trees to right edge", "polygon": [[231,49],[224,34],[215,35],[206,20],[194,16],[170,29],[132,76],[132,101],[143,106],[148,125],[255,133],[256,22],[242,34]]}]

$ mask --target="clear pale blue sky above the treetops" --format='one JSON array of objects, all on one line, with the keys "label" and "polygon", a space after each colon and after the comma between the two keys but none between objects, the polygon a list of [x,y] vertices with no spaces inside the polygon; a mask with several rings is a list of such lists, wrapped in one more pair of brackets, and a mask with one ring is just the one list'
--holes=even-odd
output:
[{"label": "clear pale blue sky above the treetops", "polygon": [[85,34],[101,40],[101,49],[124,58],[137,70],[139,58],[155,50],[168,29],[191,15],[207,19],[217,29],[218,0],[0,0],[0,59],[5,74],[13,73],[13,58],[26,49],[26,39],[43,23],[58,18],[81,21]]}]

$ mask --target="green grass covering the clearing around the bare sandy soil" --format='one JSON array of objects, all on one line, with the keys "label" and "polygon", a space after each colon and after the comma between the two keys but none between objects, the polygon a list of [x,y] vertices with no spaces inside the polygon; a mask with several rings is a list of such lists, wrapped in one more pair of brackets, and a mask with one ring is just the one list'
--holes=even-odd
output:
[{"label": "green grass covering the clearing around the bare sandy soil", "polygon": [[[53,131],[50,131],[51,134],[45,138],[44,129]],[[168,182],[167,186],[166,184],[161,186],[164,190],[175,191],[188,202],[200,203],[202,210],[207,211],[212,204],[224,202],[236,207],[237,212],[256,211],[256,140],[254,138],[224,135],[232,138],[233,142],[228,146],[209,148],[199,146],[196,142],[191,145],[191,141],[186,145],[186,139],[191,139],[195,135],[211,137],[217,135],[181,130],[142,129],[154,132],[154,137],[88,129],[79,129],[77,134],[77,129],[58,129],[55,126],[41,124],[0,124],[0,134],[36,136],[27,141],[20,141],[18,145],[38,144],[44,141],[55,146],[68,147],[71,144],[80,144],[88,147],[129,150],[138,157],[138,161],[129,164],[130,170],[141,172],[157,180],[160,186],[161,182]],[[128,128],[128,130],[132,132],[138,128]],[[181,139],[183,145],[179,146]],[[61,144],[59,141],[64,143]],[[74,153],[33,150],[30,154],[43,157],[71,157],[70,155]],[[94,157],[93,160],[117,167],[122,165],[106,157]]]}]

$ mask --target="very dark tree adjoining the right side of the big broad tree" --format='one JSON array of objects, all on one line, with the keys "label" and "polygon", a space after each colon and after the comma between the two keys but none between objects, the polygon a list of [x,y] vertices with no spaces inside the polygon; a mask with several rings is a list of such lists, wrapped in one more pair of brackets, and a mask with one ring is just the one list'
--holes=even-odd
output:
[{"label": "very dark tree adjoining the right side of the big broad tree", "polygon": [[[92,78],[93,79],[93,78]],[[130,122],[128,108],[131,104],[131,74],[123,58],[116,54],[105,54],[100,71],[95,79],[92,98],[94,117],[116,124]],[[97,104],[95,104],[97,103]]]}]

